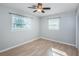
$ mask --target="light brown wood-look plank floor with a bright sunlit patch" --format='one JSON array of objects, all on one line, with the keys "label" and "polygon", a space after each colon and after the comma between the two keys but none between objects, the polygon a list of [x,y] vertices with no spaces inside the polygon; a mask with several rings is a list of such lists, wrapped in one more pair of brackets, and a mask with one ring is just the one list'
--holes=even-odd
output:
[{"label": "light brown wood-look plank floor with a bright sunlit patch", "polygon": [[77,56],[77,53],[74,46],[39,39],[0,53],[0,56]]}]

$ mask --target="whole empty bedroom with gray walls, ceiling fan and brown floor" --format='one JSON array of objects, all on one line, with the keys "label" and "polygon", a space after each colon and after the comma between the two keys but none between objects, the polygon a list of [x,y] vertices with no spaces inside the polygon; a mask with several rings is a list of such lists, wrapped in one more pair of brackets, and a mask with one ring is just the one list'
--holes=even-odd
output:
[{"label": "whole empty bedroom with gray walls, ceiling fan and brown floor", "polygon": [[0,56],[78,56],[78,3],[0,3]]}]

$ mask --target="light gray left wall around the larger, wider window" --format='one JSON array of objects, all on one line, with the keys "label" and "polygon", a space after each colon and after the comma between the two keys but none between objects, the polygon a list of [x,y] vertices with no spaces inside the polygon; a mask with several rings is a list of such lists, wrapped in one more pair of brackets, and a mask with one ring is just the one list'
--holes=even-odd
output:
[{"label": "light gray left wall around the larger, wider window", "polygon": [[[11,15],[9,12],[25,15],[32,18],[31,29],[12,32]],[[39,20],[26,12],[0,6],[0,50],[29,41],[39,35]]]}]

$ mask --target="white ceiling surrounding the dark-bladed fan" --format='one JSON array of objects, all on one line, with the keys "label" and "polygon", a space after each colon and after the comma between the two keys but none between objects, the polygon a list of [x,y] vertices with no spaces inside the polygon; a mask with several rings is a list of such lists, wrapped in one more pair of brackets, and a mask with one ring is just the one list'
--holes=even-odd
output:
[{"label": "white ceiling surrounding the dark-bladed fan", "polygon": [[78,5],[77,3],[43,3],[45,7],[51,7],[51,10],[45,10],[45,13],[38,13],[38,12],[33,13],[34,9],[29,9],[28,7],[35,4],[36,3],[2,3],[0,5],[23,10],[35,16],[46,16],[61,12],[74,11],[76,10]]}]

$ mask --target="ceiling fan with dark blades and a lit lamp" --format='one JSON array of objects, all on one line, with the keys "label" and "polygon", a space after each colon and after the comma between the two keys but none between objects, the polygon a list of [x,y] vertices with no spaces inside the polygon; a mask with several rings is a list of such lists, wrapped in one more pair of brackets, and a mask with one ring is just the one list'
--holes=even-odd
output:
[{"label": "ceiling fan with dark blades and a lit lamp", "polygon": [[50,10],[50,7],[44,7],[42,3],[38,3],[37,5],[32,5],[32,7],[28,7],[31,9],[35,9],[33,12],[42,12],[45,13],[44,10]]}]

